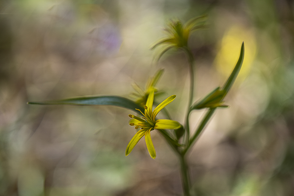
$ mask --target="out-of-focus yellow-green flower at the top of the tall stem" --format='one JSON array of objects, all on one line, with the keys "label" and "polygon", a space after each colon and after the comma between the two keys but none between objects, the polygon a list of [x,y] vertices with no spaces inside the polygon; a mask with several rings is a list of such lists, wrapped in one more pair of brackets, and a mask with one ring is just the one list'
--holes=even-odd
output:
[{"label": "out-of-focus yellow-green flower at the top of the tall stem", "polygon": [[188,39],[191,33],[198,29],[205,28],[206,25],[204,24],[204,21],[206,18],[206,15],[199,16],[197,18],[192,18],[185,24],[179,20],[171,21],[168,24],[168,28],[165,29],[168,36],[156,43],[151,50],[156,48],[158,45],[166,45],[166,47],[161,50],[158,57],[158,59],[160,59],[161,56],[171,48],[188,47]]}]

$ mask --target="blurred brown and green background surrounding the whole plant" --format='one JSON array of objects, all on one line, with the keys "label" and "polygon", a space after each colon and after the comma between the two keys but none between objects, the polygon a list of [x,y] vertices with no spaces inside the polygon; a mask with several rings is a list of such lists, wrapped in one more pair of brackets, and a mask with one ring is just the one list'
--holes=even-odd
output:
[{"label": "blurred brown and green background surrounding the whole plant", "polygon": [[[113,94],[131,97],[149,76],[176,94],[166,108],[184,122],[187,60],[151,46],[170,19],[208,14],[191,36],[195,100],[223,85],[245,43],[243,67],[188,161],[199,196],[294,195],[294,2],[291,0],[1,0],[0,195],[181,195],[178,160],[156,131],[149,157],[128,114],[108,106],[27,101]],[[134,99],[133,99],[134,100]],[[191,115],[192,129],[205,110]]]}]

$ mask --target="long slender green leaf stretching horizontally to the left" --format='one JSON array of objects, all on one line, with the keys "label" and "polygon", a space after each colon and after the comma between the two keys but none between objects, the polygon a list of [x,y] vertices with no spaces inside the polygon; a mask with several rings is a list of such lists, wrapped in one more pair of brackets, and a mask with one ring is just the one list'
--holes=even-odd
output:
[{"label": "long slender green leaf stretching horizontally to the left", "polygon": [[108,106],[118,106],[126,109],[133,110],[138,114],[141,114],[138,110],[144,111],[144,109],[131,101],[130,99],[126,99],[124,97],[118,97],[113,95],[107,96],[88,96],[88,97],[74,97],[69,99],[58,99],[58,100],[49,100],[49,101],[33,101],[27,102],[27,104],[31,105],[108,105]]}]

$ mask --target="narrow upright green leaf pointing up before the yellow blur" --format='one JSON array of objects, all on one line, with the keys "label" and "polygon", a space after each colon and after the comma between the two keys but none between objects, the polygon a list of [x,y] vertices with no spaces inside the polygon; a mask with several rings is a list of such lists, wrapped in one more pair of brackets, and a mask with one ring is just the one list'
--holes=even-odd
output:
[{"label": "narrow upright green leaf pointing up before the yellow blur", "polygon": [[237,61],[237,64],[235,65],[231,75],[229,76],[228,80],[225,82],[225,85],[223,86],[222,90],[225,91],[225,94],[229,92],[232,85],[234,84],[236,77],[241,69],[243,59],[244,59],[244,42],[242,42],[242,45],[241,45],[240,56]]}]

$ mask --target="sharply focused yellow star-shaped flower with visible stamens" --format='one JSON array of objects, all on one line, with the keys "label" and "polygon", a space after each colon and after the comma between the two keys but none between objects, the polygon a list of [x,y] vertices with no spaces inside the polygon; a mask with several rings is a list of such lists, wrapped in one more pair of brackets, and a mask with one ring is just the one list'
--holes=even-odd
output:
[{"label": "sharply focused yellow star-shaped flower with visible stamens", "polygon": [[138,129],[140,127],[141,130],[139,130],[133,136],[131,141],[128,143],[128,146],[126,148],[126,156],[128,156],[131,153],[131,151],[136,146],[136,144],[140,141],[140,139],[143,136],[145,136],[148,152],[153,159],[156,158],[156,151],[154,149],[153,142],[151,140],[150,132],[153,131],[154,129],[178,129],[181,127],[181,124],[177,121],[173,121],[169,119],[156,120],[156,116],[159,113],[159,111],[161,111],[164,107],[170,104],[175,98],[176,98],[176,95],[172,95],[168,97],[152,111],[154,91],[151,91],[148,96],[146,105],[144,106],[145,113],[143,113],[142,111],[138,109],[143,114],[144,117],[139,118],[132,114],[129,115],[131,118],[133,118],[131,120],[130,125],[135,126],[135,129]]}]

